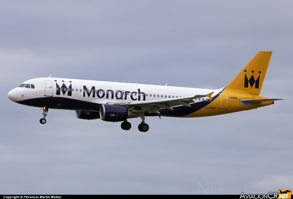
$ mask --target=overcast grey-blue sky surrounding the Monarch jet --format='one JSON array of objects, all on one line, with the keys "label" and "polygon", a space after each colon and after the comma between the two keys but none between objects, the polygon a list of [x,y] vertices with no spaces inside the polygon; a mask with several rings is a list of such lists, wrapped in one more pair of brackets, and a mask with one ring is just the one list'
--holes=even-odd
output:
[{"label": "overcast grey-blue sky surrounding the Monarch jet", "polygon": [[[1,1],[0,194],[293,189],[293,1]],[[147,117],[150,130],[10,101],[52,77],[219,89],[273,51],[257,110]]]}]

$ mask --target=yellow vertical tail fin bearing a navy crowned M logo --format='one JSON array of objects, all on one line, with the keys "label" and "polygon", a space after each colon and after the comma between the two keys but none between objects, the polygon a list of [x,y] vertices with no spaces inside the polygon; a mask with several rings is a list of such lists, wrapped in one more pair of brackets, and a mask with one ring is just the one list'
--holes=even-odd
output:
[{"label": "yellow vertical tail fin bearing a navy crowned M logo", "polygon": [[259,95],[271,55],[272,51],[258,51],[225,87],[225,90]]}]

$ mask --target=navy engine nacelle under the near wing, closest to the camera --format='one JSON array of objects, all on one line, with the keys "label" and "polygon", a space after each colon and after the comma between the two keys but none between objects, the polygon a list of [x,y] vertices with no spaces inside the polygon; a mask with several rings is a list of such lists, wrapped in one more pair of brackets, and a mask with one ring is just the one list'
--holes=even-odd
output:
[{"label": "navy engine nacelle under the near wing, closest to the camera", "polygon": [[100,118],[107,122],[122,122],[128,118],[138,117],[138,113],[128,110],[127,107],[103,104],[100,106]]}]

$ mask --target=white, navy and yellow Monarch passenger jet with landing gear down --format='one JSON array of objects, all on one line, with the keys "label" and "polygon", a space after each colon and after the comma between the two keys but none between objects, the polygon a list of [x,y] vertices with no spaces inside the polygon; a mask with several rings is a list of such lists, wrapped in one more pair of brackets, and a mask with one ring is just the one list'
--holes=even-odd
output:
[{"label": "white, navy and yellow Monarch passenger jet with landing gear down", "polygon": [[205,117],[251,110],[274,104],[276,100],[260,96],[272,51],[258,51],[244,68],[221,89],[197,89],[152,84],[132,84],[81,79],[30,79],[8,93],[16,103],[40,107],[41,124],[48,109],[75,110],[79,119],[122,122],[140,117],[139,131],[147,132],[145,116]]}]

